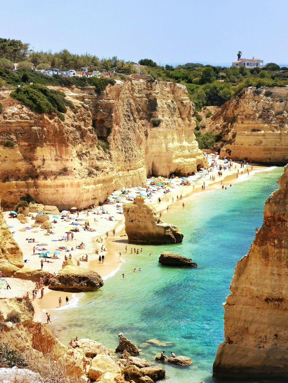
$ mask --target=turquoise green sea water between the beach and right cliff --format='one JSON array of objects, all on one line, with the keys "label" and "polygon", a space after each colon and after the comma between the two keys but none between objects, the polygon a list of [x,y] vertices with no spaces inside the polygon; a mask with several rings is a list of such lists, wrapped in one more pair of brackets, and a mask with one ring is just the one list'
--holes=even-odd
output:
[{"label": "turquoise green sea water between the beach and right cliff", "polygon": [[[224,340],[222,303],[235,264],[247,254],[255,228],[261,227],[265,200],[278,188],[282,173],[280,167],[250,173],[227,190],[205,191],[185,200],[184,209],[179,203],[164,214],[164,221],[184,233],[183,243],[143,245],[139,255],[123,250],[124,262],[103,288],[78,295],[73,307],[51,312],[58,339],[67,344],[77,335],[115,349],[119,332],[138,346],[157,338],[172,345],[143,347],[142,358],[152,361],[165,350],[168,357],[172,351],[193,361],[189,367],[165,365],[167,382],[214,382],[212,366]],[[161,266],[162,251],[192,258],[198,267]],[[139,267],[141,272],[132,272]]]}]

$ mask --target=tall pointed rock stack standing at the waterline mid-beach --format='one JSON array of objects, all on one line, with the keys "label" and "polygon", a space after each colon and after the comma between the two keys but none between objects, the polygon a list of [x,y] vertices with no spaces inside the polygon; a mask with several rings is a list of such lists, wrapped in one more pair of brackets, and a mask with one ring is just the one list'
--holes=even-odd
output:
[{"label": "tall pointed rock stack standing at the waterline mid-beach", "polygon": [[177,226],[163,222],[142,196],[134,198],[133,203],[123,203],[123,213],[129,242],[164,244],[183,240]]}]

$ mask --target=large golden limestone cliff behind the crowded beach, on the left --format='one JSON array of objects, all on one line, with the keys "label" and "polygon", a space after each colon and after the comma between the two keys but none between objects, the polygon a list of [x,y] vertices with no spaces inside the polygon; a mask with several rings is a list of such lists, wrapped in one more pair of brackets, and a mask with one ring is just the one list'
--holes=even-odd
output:
[{"label": "large golden limestone cliff behind the crowded beach, on the left", "polygon": [[[117,81],[101,95],[55,87],[76,106],[62,122],[10,97],[0,114],[3,205],[29,193],[58,208],[103,201],[114,189],[143,185],[147,175],[187,175],[206,159],[193,133],[194,107],[184,85]],[[153,127],[153,118],[161,123]],[[16,142],[6,147],[7,140]]]}]

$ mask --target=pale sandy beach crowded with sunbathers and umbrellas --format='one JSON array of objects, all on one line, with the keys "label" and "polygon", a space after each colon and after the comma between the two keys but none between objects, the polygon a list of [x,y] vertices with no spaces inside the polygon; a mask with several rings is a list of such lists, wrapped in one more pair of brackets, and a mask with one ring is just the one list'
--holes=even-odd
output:
[{"label": "pale sandy beach crowded with sunbathers and umbrellas", "polygon": [[[209,162],[212,161],[212,156],[208,157]],[[217,157],[213,157],[215,160],[217,167],[222,164],[225,166],[222,160]],[[253,170],[251,170],[253,167]],[[169,213],[174,209],[183,209],[182,204],[185,205],[185,200],[187,198],[193,198],[197,193],[205,193],[207,191],[222,188],[222,184],[224,185],[223,193],[228,193],[230,184],[233,185],[237,180],[243,180],[244,177],[250,177],[251,173],[257,170],[265,170],[266,166],[260,166],[257,164],[248,164],[248,167],[240,168],[240,164],[234,163],[230,170],[222,169],[222,176],[218,176],[219,169],[212,168],[212,170],[205,175],[204,172],[197,172],[193,176],[189,176],[186,179],[189,180],[189,186],[182,186],[180,183],[182,182],[181,178],[174,178],[169,181],[169,186],[164,188],[160,185],[157,185],[157,188],[153,188],[152,196],[150,199],[147,199],[152,206],[154,206],[158,213],[162,213],[162,220],[167,223],[173,223],[169,220]],[[248,171],[249,170],[249,174]],[[238,178],[237,178],[238,172]],[[243,174],[242,174],[243,173]],[[210,177],[215,176],[215,181]],[[159,179],[156,180],[157,183]],[[147,184],[151,182],[151,179],[147,180]],[[205,188],[202,190],[202,186],[205,182]],[[227,189],[225,189],[227,187]],[[169,189],[167,194],[164,194],[164,190]],[[40,269],[40,260],[41,253],[50,251],[48,256],[52,256],[54,252],[57,252],[56,255],[59,257],[58,259],[44,259],[43,270],[48,273],[57,273],[62,268],[62,263],[65,255],[68,257],[69,254],[72,256],[72,260],[76,264],[77,260],[82,259],[82,257],[86,257],[88,255],[88,262],[80,261],[80,266],[84,268],[89,268],[98,272],[102,278],[108,277],[109,274],[113,273],[121,264],[121,258],[125,259],[125,246],[131,249],[131,244],[128,244],[127,236],[124,230],[124,215],[122,214],[122,202],[126,201],[126,198],[121,198],[121,190],[115,191],[113,193],[114,200],[119,201],[114,203],[113,205],[104,205],[103,208],[97,206],[95,208],[91,208],[88,211],[79,212],[79,216],[74,214],[69,214],[68,216],[61,217],[61,214],[58,218],[50,217],[50,221],[52,222],[56,219],[56,223],[52,223],[51,231],[53,234],[47,235],[46,229],[41,229],[40,226],[38,228],[32,227],[35,224],[35,214],[31,214],[32,216],[28,216],[28,223],[22,224],[18,221],[17,218],[10,218],[9,211],[4,212],[4,218],[10,227],[10,231],[13,234],[15,241],[20,246],[23,252],[23,261],[26,260],[25,267],[33,267],[36,270]],[[129,195],[137,195],[140,193],[139,188],[129,188],[127,191]],[[178,195],[178,201],[177,201]],[[180,196],[182,195],[182,198]],[[161,203],[159,203],[158,198],[161,198]],[[132,201],[131,201],[132,203]],[[167,206],[169,206],[169,210],[167,210]],[[184,206],[185,208],[185,206]],[[102,213],[104,209],[105,214]],[[108,212],[108,214],[106,214]],[[34,216],[34,217],[33,217]],[[113,221],[109,220],[109,217],[112,217]],[[78,226],[72,225],[72,223],[76,222],[76,219],[81,219],[78,222]],[[89,226],[94,231],[86,231],[83,229],[83,226],[80,226],[79,223],[89,222]],[[79,232],[74,232],[73,241],[66,241],[67,231],[71,229],[79,228]],[[115,229],[115,235],[113,235],[113,229]],[[108,232],[108,238],[106,238],[106,232]],[[32,240],[27,240],[32,239]],[[35,239],[35,242],[33,242]],[[61,241],[60,241],[61,239]],[[185,239],[184,239],[185,240]],[[79,246],[81,242],[84,243],[84,249],[76,249],[76,246]],[[35,254],[33,254],[33,247],[35,246]],[[103,251],[101,252],[101,247],[103,246]],[[130,246],[130,247],[129,247]],[[60,247],[67,247],[67,250],[60,249]],[[73,248],[73,250],[71,250]],[[107,251],[104,251],[106,248]],[[43,250],[42,250],[43,249]],[[44,250],[45,249],[45,250]],[[96,250],[99,251],[99,254],[96,254]],[[121,257],[119,257],[119,252],[121,252]],[[103,255],[105,257],[104,263],[99,263],[99,255]],[[10,283],[11,290],[6,289],[5,281],[2,280],[2,289],[0,289],[0,298],[5,297],[13,297],[13,296],[25,296],[26,293],[29,293],[31,298],[31,292],[35,288],[35,283],[31,281],[26,281],[18,278],[5,278]],[[49,290],[48,287],[45,287],[43,299],[40,297],[40,290],[37,293],[36,299],[33,301],[35,306],[35,320],[40,320],[46,322],[46,311],[50,309],[56,309],[58,307],[58,300],[61,297],[62,306],[66,304],[65,298],[68,296],[70,300],[69,303],[73,302],[73,298],[78,298],[82,293],[65,293],[62,291],[52,291]],[[72,302],[71,302],[72,301]],[[71,304],[73,306],[73,304]],[[53,322],[53,316],[52,316]]]}]

